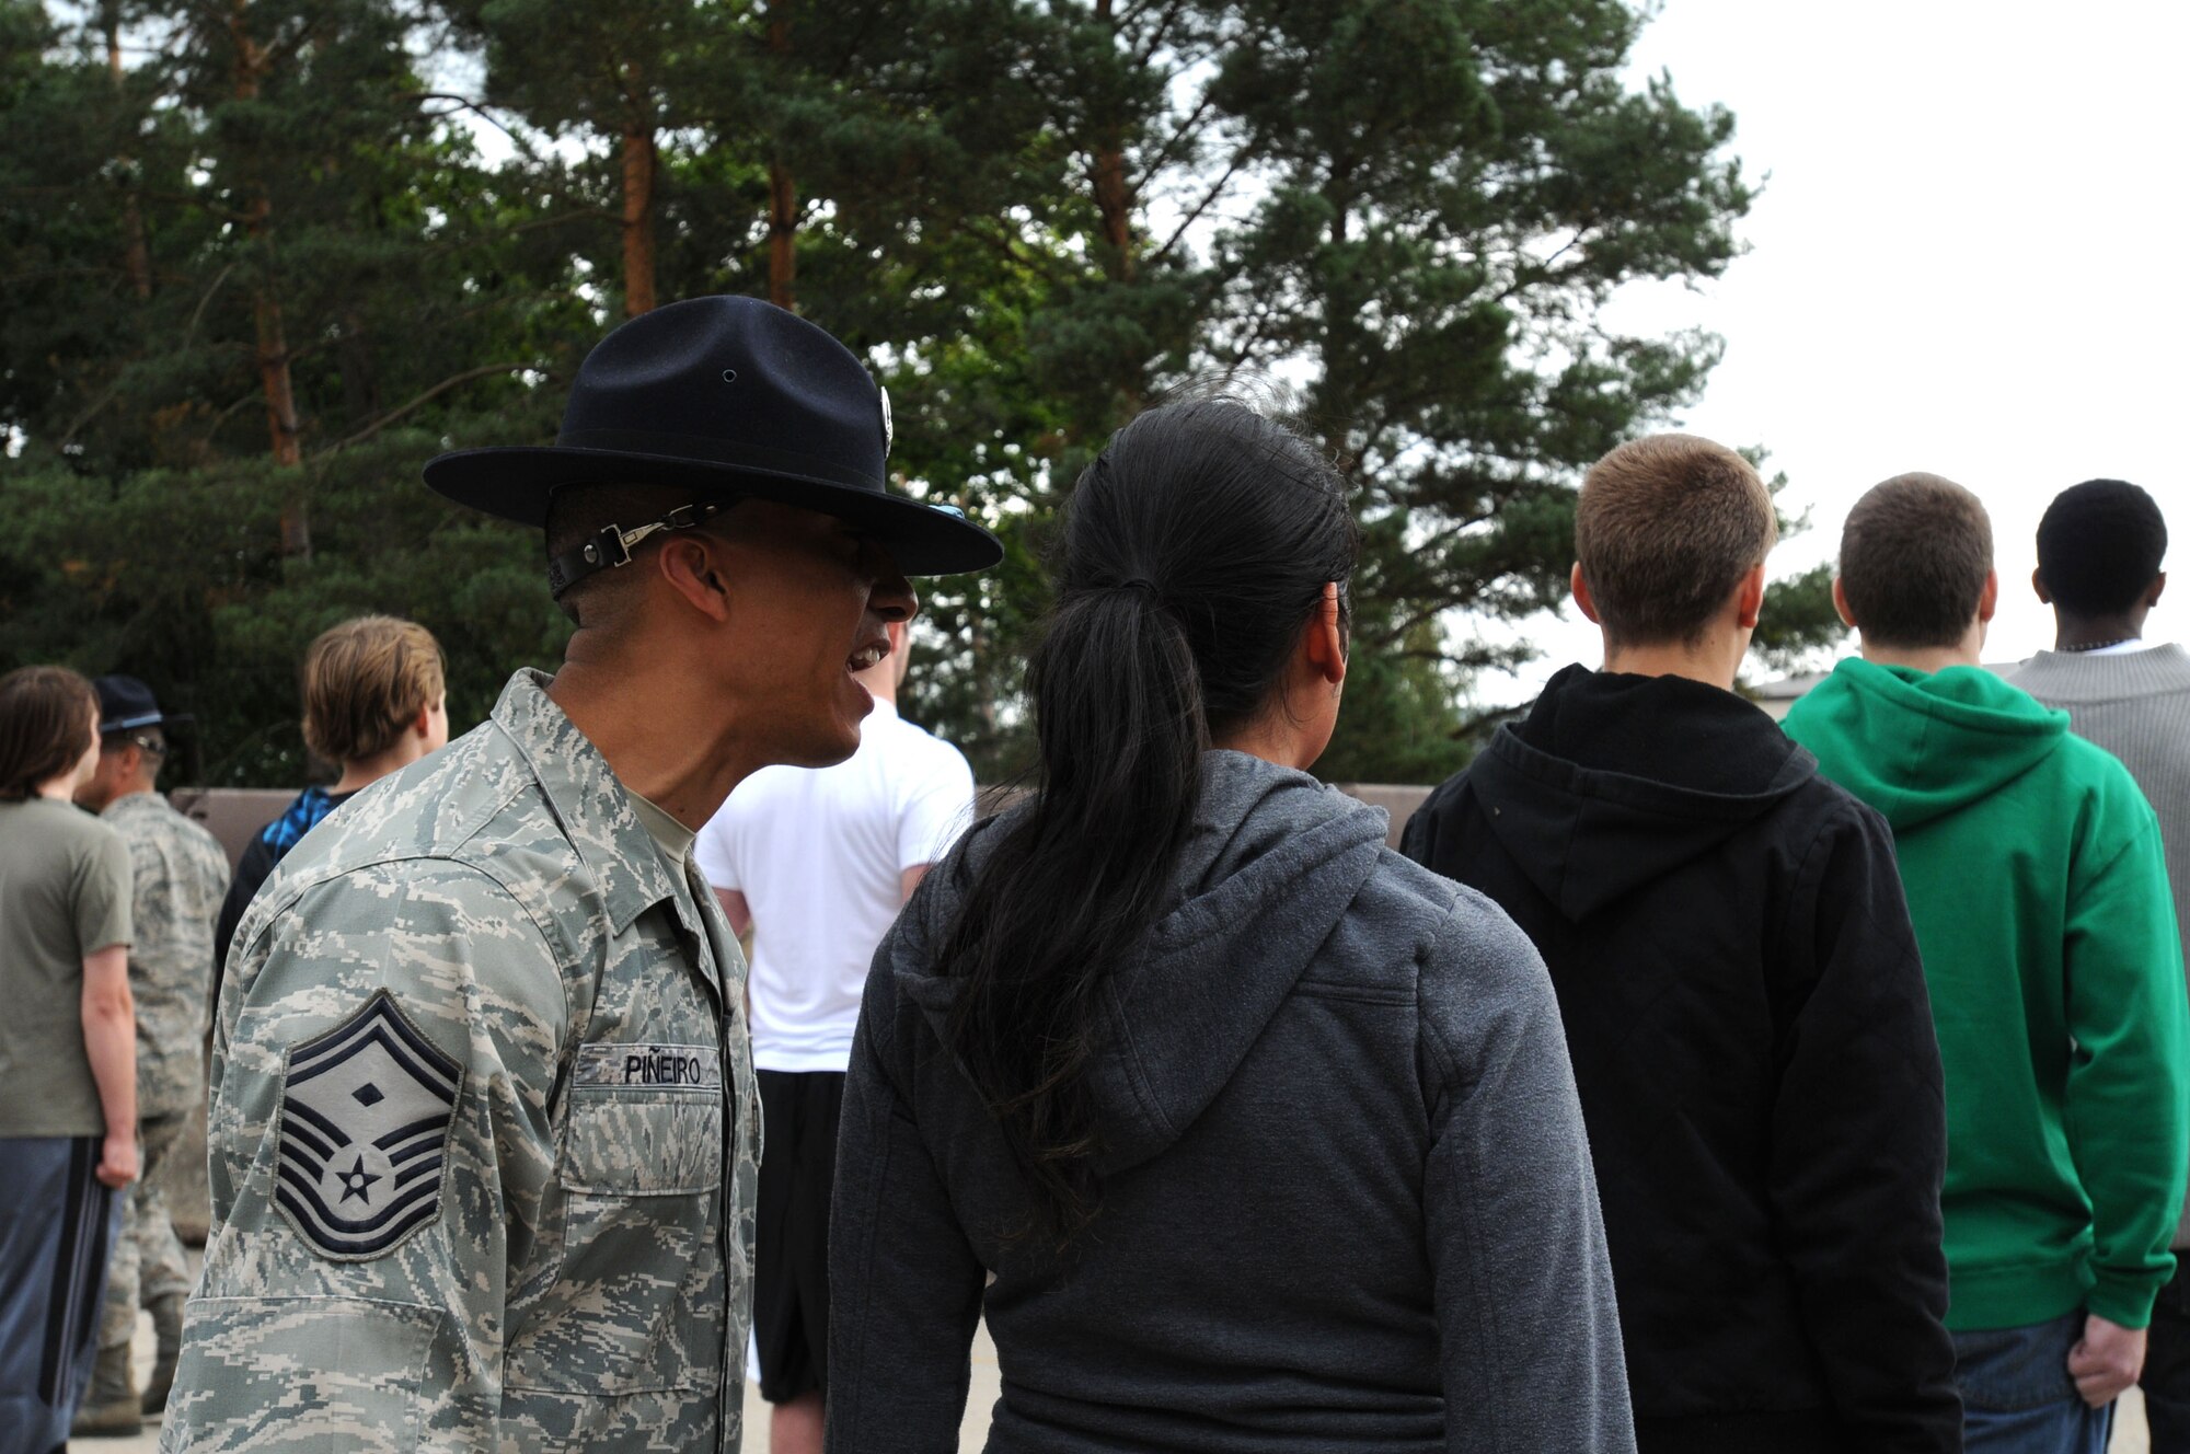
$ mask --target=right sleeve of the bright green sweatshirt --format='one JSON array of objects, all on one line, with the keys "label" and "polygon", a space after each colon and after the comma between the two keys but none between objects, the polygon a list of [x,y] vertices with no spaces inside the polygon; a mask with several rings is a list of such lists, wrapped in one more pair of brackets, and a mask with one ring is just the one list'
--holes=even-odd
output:
[{"label": "right sleeve of the bright green sweatshirt", "polygon": [[[2144,804],[2137,804],[2144,808]],[[2144,1327],[2175,1270],[2168,1242],[2190,1161],[2190,1009],[2159,826],[2142,828],[2070,885],[2065,1123],[2091,1196],[2089,1309]]]}]

